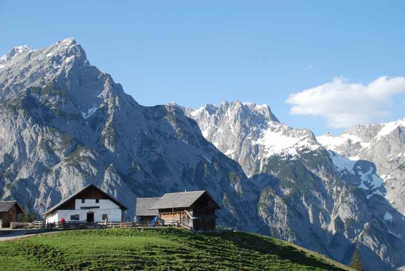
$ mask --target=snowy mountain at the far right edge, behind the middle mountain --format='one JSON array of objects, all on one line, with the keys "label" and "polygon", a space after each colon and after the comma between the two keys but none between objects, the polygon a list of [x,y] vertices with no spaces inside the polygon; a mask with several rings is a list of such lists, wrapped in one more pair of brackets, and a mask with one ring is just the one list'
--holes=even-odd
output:
[{"label": "snowy mountain at the far right edge, behind the middle mountain", "polygon": [[[339,136],[326,134],[317,140],[330,150],[331,157],[346,161],[343,173],[365,190],[367,199],[385,198],[405,215],[405,119],[396,122],[358,125]],[[341,167],[341,166],[340,166]]]}]

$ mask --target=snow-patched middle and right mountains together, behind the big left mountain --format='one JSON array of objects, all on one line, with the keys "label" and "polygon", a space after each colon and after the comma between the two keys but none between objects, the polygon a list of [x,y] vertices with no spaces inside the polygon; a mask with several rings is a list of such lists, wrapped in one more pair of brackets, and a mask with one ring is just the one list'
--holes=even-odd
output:
[{"label": "snow-patched middle and right mountains together, behind the big left mountain", "polygon": [[182,109],[260,191],[257,216],[271,236],[344,263],[357,249],[369,270],[405,264],[403,188],[387,192],[391,182],[403,187],[399,123],[315,138],[279,123],[267,105]]}]

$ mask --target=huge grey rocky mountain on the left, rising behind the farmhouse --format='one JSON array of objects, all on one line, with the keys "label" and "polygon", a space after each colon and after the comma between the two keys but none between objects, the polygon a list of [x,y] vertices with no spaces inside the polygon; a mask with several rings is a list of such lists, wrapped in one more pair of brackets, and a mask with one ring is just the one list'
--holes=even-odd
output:
[{"label": "huge grey rocky mountain on the left, rising behind the farmhouse", "polygon": [[0,58],[0,199],[42,212],[89,183],[136,197],[207,189],[220,223],[257,229],[255,186],[176,106],[139,105],[72,38]]}]

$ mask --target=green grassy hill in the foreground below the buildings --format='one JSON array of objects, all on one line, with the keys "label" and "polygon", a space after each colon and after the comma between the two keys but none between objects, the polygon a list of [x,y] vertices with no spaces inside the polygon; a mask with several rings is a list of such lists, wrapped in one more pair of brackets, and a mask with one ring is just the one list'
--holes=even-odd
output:
[{"label": "green grassy hill in the foreground below the buildings", "polygon": [[0,242],[0,270],[44,269],[350,270],[293,244],[248,233],[117,228]]}]

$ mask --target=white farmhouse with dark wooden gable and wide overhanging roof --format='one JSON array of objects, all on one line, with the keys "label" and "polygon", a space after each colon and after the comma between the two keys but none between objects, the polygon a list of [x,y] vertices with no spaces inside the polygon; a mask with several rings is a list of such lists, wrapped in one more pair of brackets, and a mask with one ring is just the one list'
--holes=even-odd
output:
[{"label": "white farmhouse with dark wooden gable and wide overhanging roof", "polygon": [[128,208],[94,184],[89,184],[61,201],[42,215],[46,223],[123,221]]}]

